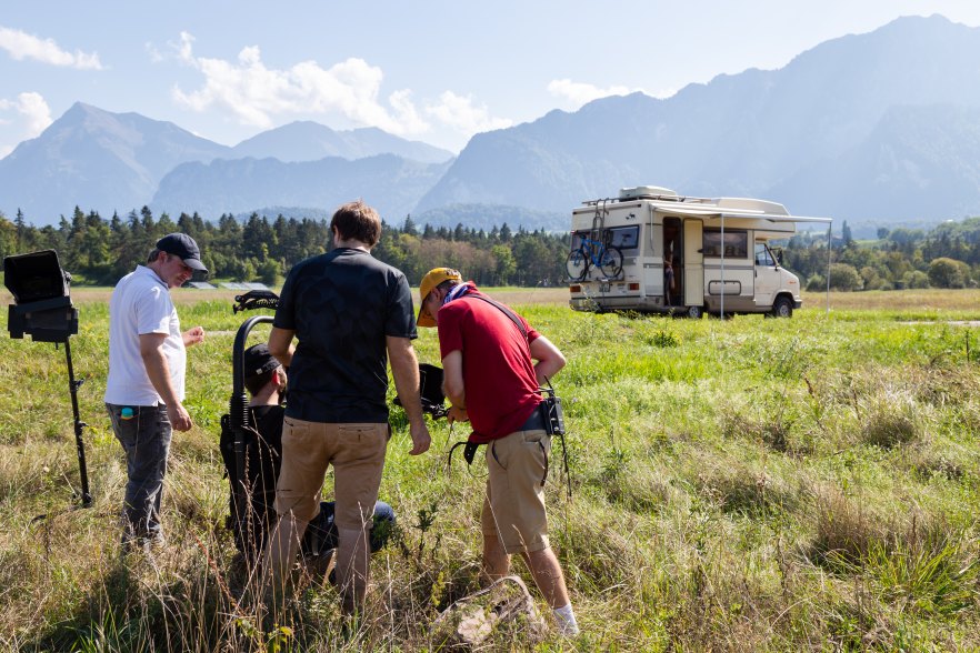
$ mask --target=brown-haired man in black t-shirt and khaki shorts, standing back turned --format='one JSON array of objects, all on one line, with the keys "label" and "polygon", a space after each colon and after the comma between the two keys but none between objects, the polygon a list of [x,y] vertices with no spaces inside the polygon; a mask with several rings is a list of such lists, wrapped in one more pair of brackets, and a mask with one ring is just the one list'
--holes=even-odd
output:
[{"label": "brown-haired man in black t-shirt and khaki shorts, standing back turned", "polygon": [[[332,465],[337,573],[343,610],[353,613],[361,611],[367,592],[368,524],[390,434],[389,358],[409,420],[409,453],[426,452],[430,438],[411,344],[417,338],[411,290],[404,274],[370,253],[381,235],[381,219],[363,202],[351,202],[333,214],[330,230],[334,249],[290,270],[269,334],[269,351],[289,368],[290,379],[276,491],[279,524],[267,569],[273,592],[282,592]],[[299,342],[290,353],[293,338]]]}]

